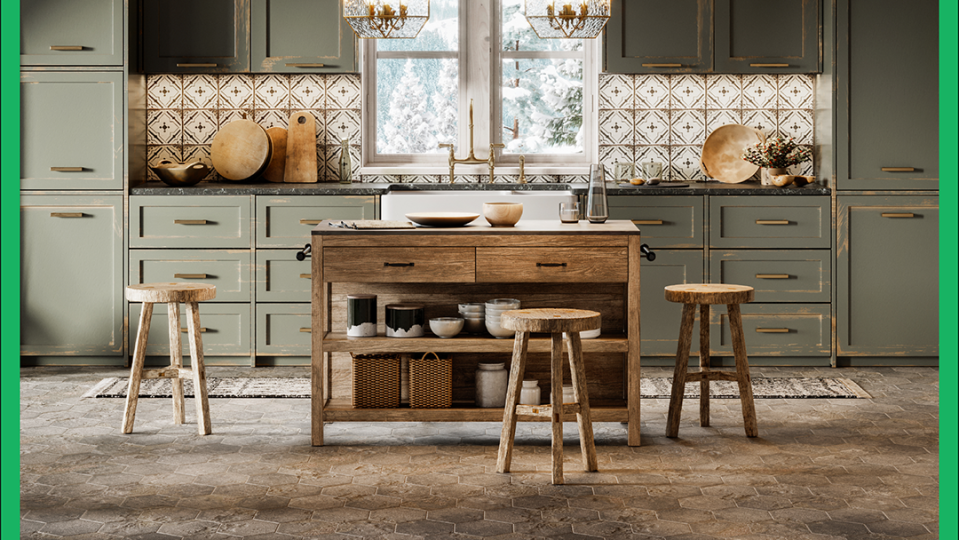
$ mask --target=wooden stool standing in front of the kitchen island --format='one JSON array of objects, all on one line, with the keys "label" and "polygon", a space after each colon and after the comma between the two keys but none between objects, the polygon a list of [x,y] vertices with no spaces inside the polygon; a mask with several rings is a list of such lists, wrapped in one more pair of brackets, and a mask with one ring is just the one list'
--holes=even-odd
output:
[{"label": "wooden stool standing in front of the kitchen island", "polygon": [[[509,472],[517,416],[548,416],[553,424],[553,483],[562,484],[563,413],[576,413],[583,466],[587,471],[596,471],[596,445],[593,443],[593,422],[589,415],[586,368],[583,365],[583,344],[579,333],[599,328],[600,314],[581,309],[519,309],[503,313],[501,325],[508,330],[516,330],[516,338],[513,341],[513,362],[509,390],[506,393],[506,409],[503,411],[499,457],[496,460],[497,472]],[[530,332],[548,332],[552,337],[550,405],[519,404]],[[563,403],[563,332],[566,332],[566,348],[569,351],[570,374],[576,399],[573,403]]]}]

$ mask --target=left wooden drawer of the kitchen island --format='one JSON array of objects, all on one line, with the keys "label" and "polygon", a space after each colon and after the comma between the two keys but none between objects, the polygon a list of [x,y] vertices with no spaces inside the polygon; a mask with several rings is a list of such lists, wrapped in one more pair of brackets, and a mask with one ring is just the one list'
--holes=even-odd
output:
[{"label": "left wooden drawer of the kitchen island", "polygon": [[451,283],[476,281],[473,248],[324,248],[326,281]]}]

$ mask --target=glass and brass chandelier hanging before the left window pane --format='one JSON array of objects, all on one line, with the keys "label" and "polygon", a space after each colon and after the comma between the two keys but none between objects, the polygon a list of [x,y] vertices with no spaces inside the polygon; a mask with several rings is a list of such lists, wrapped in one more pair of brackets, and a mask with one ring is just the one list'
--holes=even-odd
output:
[{"label": "glass and brass chandelier hanging before the left window pane", "polygon": [[361,38],[415,38],[430,18],[430,0],[344,0],[343,18]]}]

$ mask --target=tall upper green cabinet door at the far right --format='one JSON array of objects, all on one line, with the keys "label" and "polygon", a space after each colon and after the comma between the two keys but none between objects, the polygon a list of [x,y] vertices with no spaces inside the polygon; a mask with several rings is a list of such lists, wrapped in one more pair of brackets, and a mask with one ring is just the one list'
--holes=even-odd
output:
[{"label": "tall upper green cabinet door at the far right", "polygon": [[939,188],[935,0],[841,0],[836,187]]}]

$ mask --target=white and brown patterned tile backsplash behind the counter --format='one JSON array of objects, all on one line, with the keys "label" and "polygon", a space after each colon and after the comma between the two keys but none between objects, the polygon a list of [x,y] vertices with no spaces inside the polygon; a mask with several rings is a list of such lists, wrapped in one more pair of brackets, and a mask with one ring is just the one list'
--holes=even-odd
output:
[{"label": "white and brown patterned tile backsplash behind the counter", "polygon": [[[808,75],[600,75],[599,160],[659,161],[667,180],[704,180],[699,156],[719,126],[745,124],[766,136],[812,146],[814,78]],[[290,115],[316,118],[317,175],[339,181],[339,141],[350,140],[354,179],[360,163],[359,75],[150,75],[147,161],[210,161],[217,129],[240,118],[287,127]],[[793,168],[813,174],[813,164]],[[152,171],[151,180],[156,180]],[[435,183],[440,175],[364,176],[364,182]],[[480,181],[463,176],[457,181]],[[531,176],[532,182],[585,182],[586,177]],[[220,178],[211,172],[206,180]],[[515,182],[513,176],[496,181]]]}]

